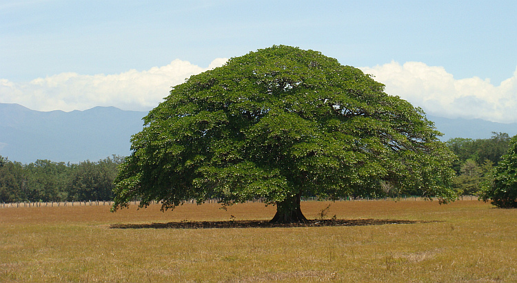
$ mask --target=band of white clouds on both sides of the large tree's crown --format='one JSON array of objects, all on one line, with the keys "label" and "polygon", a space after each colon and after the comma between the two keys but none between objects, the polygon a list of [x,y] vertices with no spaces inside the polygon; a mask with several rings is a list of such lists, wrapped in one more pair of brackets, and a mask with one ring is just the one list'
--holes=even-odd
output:
[{"label": "band of white clouds on both sides of the large tree's crown", "polygon": [[[39,111],[84,110],[95,106],[147,111],[168,96],[170,87],[226,61],[215,59],[203,68],[176,59],[142,72],[129,70],[93,76],[62,73],[26,83],[0,79],[0,103],[19,103]],[[391,62],[361,70],[384,83],[388,94],[401,96],[422,107],[427,114],[517,122],[517,70],[498,86],[478,77],[455,79],[443,67],[420,62],[403,65]]]}]

